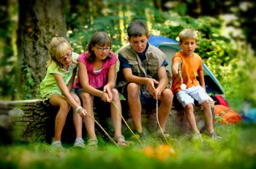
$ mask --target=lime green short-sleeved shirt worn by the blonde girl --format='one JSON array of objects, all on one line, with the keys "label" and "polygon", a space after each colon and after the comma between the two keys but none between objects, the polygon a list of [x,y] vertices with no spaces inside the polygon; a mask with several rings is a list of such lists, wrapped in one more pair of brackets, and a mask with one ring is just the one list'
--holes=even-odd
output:
[{"label": "lime green short-sleeved shirt worn by the blonde girl", "polygon": [[45,75],[45,79],[43,79],[40,83],[40,93],[42,98],[50,98],[50,96],[54,93],[59,93],[59,95],[62,95],[61,90],[56,83],[56,79],[54,78],[54,74],[60,74],[65,84],[68,84],[72,77],[74,68],[78,66],[78,56],[78,53],[72,52],[72,62],[70,63],[67,71],[60,68],[55,61],[50,63]]}]

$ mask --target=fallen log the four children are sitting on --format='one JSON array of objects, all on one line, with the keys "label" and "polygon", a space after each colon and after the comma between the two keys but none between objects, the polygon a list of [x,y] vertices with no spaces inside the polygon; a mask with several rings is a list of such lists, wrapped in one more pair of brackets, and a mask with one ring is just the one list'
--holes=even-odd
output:
[{"label": "fallen log the four children are sitting on", "polygon": [[[122,102],[122,111],[129,109]],[[0,144],[8,144],[14,141],[46,141],[50,142],[54,134],[54,120],[57,109],[54,109],[42,99],[25,100],[25,101],[0,101]],[[70,113],[69,113],[70,114]],[[154,132],[157,127],[156,111],[147,112],[143,109],[143,126],[149,132]],[[199,107],[195,109],[195,117],[199,129],[204,127],[204,119]],[[97,116],[96,116],[97,118]],[[126,117],[130,127],[132,120]],[[145,120],[144,120],[145,119]],[[171,135],[187,133],[190,128],[184,110],[175,106],[170,110],[170,116],[167,120],[166,130]],[[86,129],[83,128],[83,135]],[[61,139],[66,142],[75,140],[75,127],[72,124],[72,114],[68,115]]]}]

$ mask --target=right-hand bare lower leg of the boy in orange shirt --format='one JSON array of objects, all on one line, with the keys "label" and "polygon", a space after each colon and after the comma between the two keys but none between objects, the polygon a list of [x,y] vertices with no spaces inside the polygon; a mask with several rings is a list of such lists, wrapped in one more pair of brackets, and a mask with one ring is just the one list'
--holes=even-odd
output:
[{"label": "right-hand bare lower leg of the boy in orange shirt", "polygon": [[209,100],[206,100],[202,103],[203,114],[206,117],[206,125],[209,133],[214,133],[214,122],[211,112],[211,103]]}]

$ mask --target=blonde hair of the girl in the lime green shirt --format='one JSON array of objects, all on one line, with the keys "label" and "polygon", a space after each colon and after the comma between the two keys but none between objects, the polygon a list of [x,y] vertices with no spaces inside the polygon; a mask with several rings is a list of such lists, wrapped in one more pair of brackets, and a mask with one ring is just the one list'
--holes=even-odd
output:
[{"label": "blonde hair of the girl in the lime green shirt", "polygon": [[72,52],[72,47],[69,42],[67,42],[67,39],[64,37],[54,37],[51,39],[48,48],[50,51],[50,60],[48,61],[47,66],[54,61],[62,68],[63,65],[58,60],[63,58],[67,52]]}]

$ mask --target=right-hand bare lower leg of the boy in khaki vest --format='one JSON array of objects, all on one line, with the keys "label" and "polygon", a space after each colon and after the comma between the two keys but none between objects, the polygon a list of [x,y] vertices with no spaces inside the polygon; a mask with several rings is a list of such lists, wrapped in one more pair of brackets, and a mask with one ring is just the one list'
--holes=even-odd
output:
[{"label": "right-hand bare lower leg of the boy in khaki vest", "polygon": [[159,106],[158,119],[162,130],[165,131],[167,118],[169,117],[170,109],[173,104],[173,93],[170,89],[165,89],[164,91],[162,91],[162,95],[159,100],[161,101],[161,103]]}]

